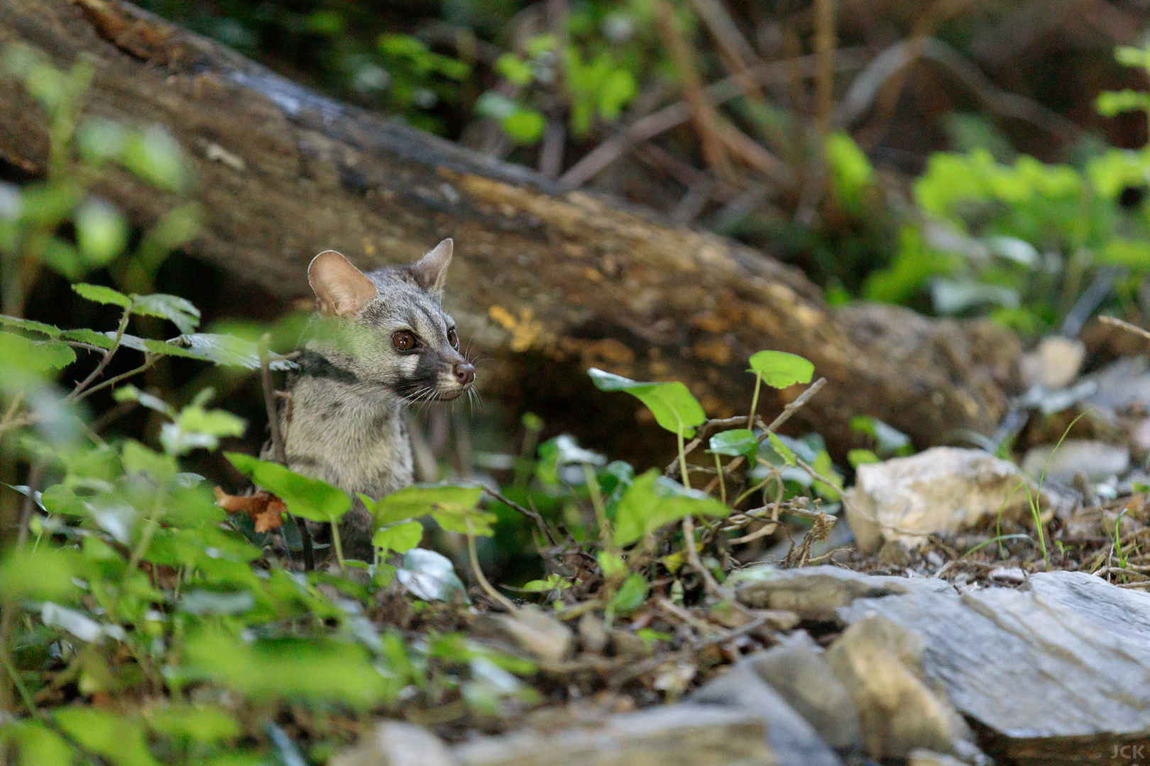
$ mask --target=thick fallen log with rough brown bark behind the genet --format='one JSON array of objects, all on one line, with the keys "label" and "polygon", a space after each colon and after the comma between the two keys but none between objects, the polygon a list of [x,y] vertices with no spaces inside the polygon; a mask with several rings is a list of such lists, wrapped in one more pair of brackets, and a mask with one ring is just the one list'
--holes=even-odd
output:
[{"label": "thick fallen log with rough brown bark behind the genet", "polygon": [[[206,212],[193,253],[238,278],[302,295],[321,250],[370,268],[453,237],[446,303],[489,357],[483,387],[497,397],[570,401],[566,378],[596,365],[684,380],[711,416],[730,416],[749,401],[746,357],[775,348],[827,377],[796,420],[838,450],[852,415],[929,444],[990,433],[1005,410],[1019,353],[1005,332],[876,307],[836,314],[802,273],[757,250],[322,98],[126,5],[5,0],[0,40],[60,65],[91,56],[86,114],[168,129]],[[43,117],[0,84],[0,157],[36,173],[46,156]],[[126,173],[102,192],[139,223],[175,201]]]}]

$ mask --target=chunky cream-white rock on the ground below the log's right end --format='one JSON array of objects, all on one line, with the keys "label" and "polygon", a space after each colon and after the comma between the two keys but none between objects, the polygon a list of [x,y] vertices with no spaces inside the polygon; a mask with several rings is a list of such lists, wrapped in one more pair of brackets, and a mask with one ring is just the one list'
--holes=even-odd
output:
[{"label": "chunky cream-white rock on the ground below the log's right end", "polygon": [[846,520],[865,552],[891,540],[918,548],[930,534],[952,534],[999,512],[1029,517],[1027,488],[1040,500],[1043,520],[1064,502],[1049,488],[1040,492],[1013,463],[982,450],[934,447],[860,465],[845,493]]}]

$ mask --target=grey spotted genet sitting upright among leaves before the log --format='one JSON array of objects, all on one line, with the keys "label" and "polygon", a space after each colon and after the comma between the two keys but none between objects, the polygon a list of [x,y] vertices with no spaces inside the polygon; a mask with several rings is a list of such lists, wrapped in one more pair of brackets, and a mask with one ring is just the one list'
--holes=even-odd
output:
[{"label": "grey spotted genet sitting upright among leaves before the log", "polygon": [[[284,451],[292,471],[351,494],[339,529],[353,558],[369,559],[374,532],[356,494],[378,498],[412,483],[405,407],[453,400],[474,379],[443,310],[451,253],[448,239],[414,264],[365,274],[328,250],[308,269],[317,314],[281,412]],[[416,345],[400,350],[397,333]]]}]

